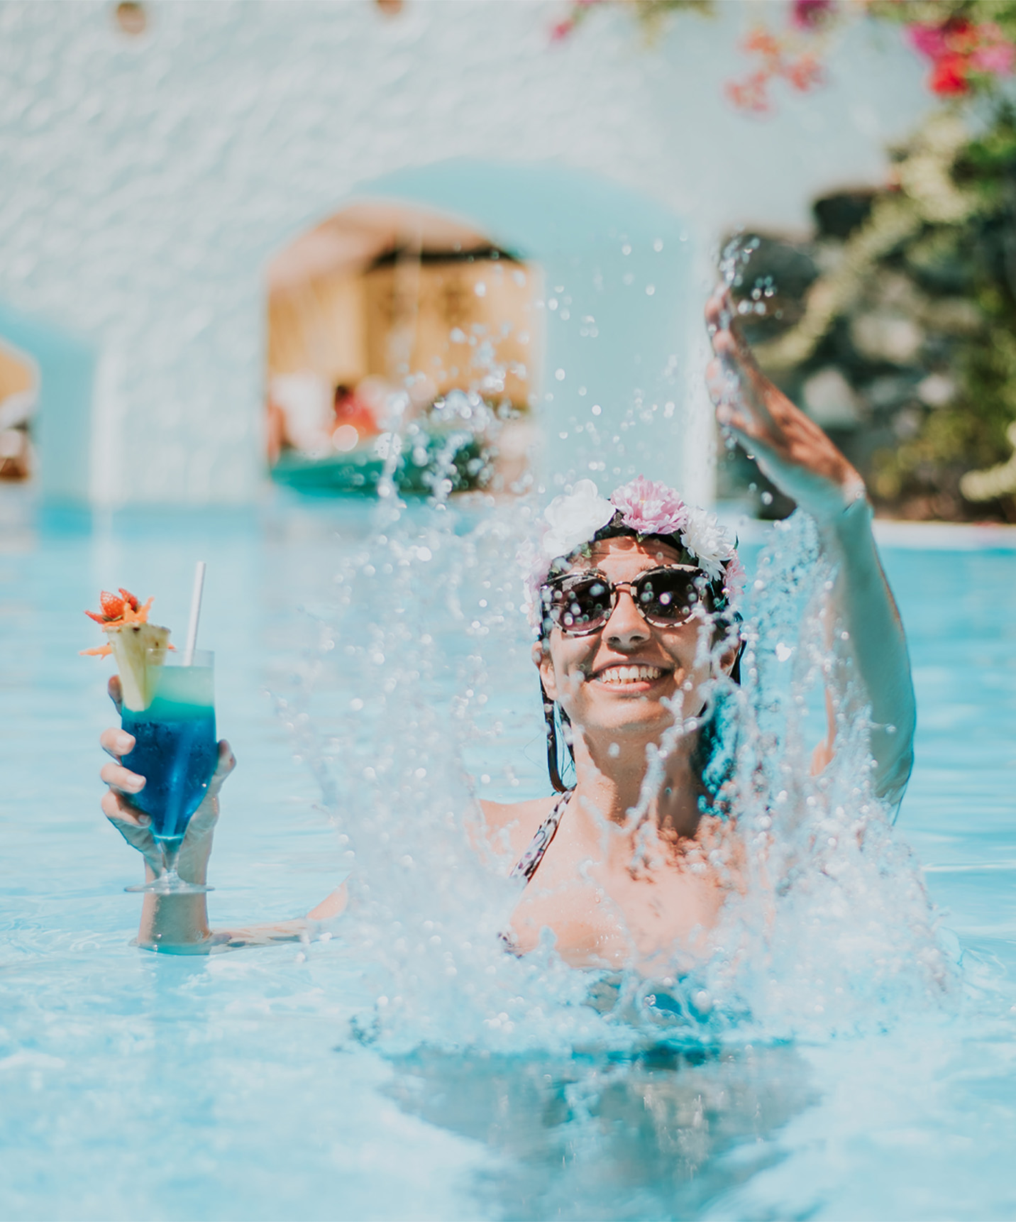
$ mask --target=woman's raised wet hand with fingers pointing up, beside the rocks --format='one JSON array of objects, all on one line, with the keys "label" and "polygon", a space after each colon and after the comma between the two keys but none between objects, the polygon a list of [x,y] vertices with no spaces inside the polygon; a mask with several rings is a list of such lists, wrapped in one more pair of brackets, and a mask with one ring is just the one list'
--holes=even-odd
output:
[{"label": "woman's raised wet hand with fingers pointing up, beside the rocks", "polygon": [[865,500],[863,480],[844,455],[758,368],[725,285],[706,306],[706,326],[714,353],[706,384],[717,420],[777,488],[819,525]]}]

